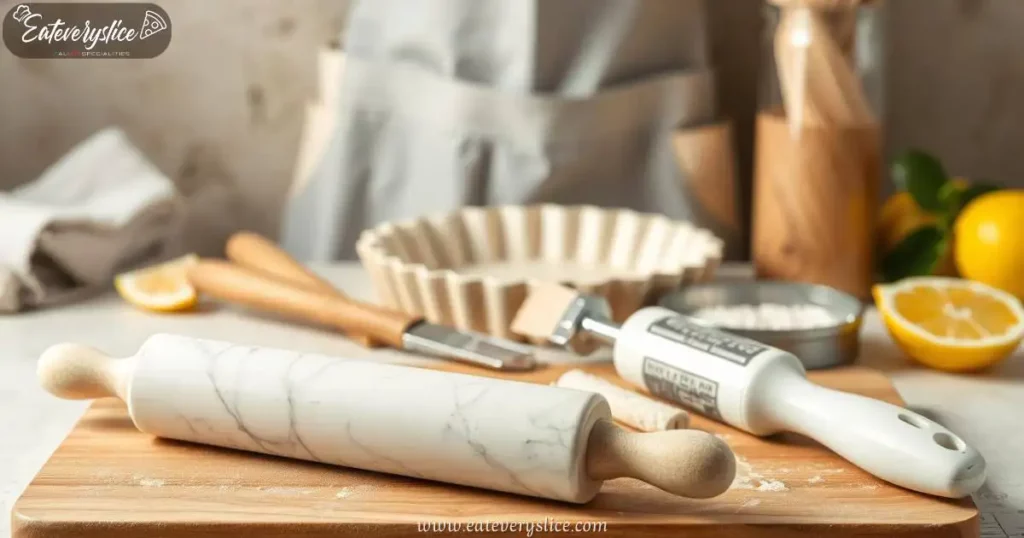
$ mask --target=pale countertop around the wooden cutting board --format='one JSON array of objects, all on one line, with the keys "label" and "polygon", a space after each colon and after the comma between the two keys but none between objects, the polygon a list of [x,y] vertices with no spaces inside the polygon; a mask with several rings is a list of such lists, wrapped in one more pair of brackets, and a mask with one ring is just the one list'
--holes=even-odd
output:
[{"label": "pale countertop around the wooden cutting board", "polygon": [[[356,264],[317,267],[357,298],[371,298]],[[735,267],[724,272],[735,274]],[[36,358],[49,345],[87,343],[130,356],[158,332],[289,347],[339,357],[429,363],[394,350],[368,350],[325,331],[211,307],[199,314],[156,315],[131,308],[113,293],[76,305],[0,317],[0,538],[10,533],[11,506],[87,407],[57,400],[35,381]],[[542,360],[563,362],[560,351]],[[860,364],[884,370],[908,405],[973,444],[988,463],[988,482],[975,495],[985,538],[1024,537],[1024,349],[984,375],[951,375],[903,359],[874,312],[864,323]]]}]

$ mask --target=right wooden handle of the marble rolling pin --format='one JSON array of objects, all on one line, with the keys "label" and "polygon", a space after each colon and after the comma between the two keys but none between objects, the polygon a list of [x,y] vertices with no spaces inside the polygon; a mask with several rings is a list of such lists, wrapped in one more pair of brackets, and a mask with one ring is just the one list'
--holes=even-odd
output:
[{"label": "right wooden handle of the marble rolling pin", "polygon": [[693,499],[721,495],[736,474],[736,458],[722,440],[695,429],[637,433],[598,420],[587,443],[594,480],[638,479]]}]

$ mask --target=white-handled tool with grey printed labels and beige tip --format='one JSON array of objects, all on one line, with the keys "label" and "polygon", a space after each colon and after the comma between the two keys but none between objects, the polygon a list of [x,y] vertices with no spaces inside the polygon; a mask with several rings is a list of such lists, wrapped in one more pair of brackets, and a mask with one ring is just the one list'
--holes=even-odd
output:
[{"label": "white-handled tool with grey printed labels and beige tip", "polygon": [[814,384],[796,356],[670,309],[641,308],[620,326],[602,299],[541,285],[512,329],[556,344],[587,335],[606,341],[615,371],[635,386],[755,436],[802,433],[897,486],[959,498],[985,481],[978,451],[940,424]]}]

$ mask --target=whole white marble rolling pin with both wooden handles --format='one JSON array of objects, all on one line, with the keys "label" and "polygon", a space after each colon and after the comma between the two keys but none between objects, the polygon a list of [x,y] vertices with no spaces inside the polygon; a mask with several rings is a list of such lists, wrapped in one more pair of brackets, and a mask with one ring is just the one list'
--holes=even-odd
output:
[{"label": "whole white marble rolling pin with both wooden handles", "polygon": [[735,474],[702,431],[627,431],[593,392],[158,334],[128,359],[40,358],[44,388],[116,396],[154,436],[583,503],[632,477],[714,497]]}]

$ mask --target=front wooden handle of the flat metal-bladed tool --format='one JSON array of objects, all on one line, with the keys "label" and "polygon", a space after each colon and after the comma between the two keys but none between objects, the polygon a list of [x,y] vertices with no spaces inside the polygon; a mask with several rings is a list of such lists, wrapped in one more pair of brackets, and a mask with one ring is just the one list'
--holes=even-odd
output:
[{"label": "front wooden handle of the flat metal-bladed tool", "polygon": [[228,261],[201,260],[187,270],[188,281],[200,293],[257,311],[365,334],[402,348],[402,335],[420,321],[397,311],[339,299],[292,286]]}]

